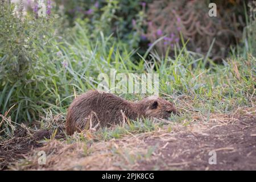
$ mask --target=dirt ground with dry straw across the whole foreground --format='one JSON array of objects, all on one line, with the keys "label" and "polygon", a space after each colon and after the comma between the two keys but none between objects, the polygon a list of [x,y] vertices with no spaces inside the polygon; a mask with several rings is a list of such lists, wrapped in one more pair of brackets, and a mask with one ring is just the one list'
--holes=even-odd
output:
[{"label": "dirt ground with dry straw across the whole foreground", "polygon": [[[47,135],[49,138],[47,131],[35,133],[27,140],[24,140],[27,134],[20,132],[0,144],[1,167],[15,170],[256,170],[255,111],[254,107],[232,115],[212,114],[208,122],[195,117],[187,126],[174,123],[148,133],[87,143],[51,139],[43,144],[38,141]],[[46,152],[46,164],[38,164],[39,151]],[[210,151],[216,152],[216,164],[209,164]]]}]

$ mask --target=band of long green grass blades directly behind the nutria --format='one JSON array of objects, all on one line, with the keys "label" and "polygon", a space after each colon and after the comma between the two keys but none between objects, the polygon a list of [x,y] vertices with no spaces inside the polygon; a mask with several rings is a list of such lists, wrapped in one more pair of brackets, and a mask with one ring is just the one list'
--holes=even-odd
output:
[{"label": "band of long green grass blades directly behind the nutria", "polygon": [[[154,47],[134,61],[135,54],[136,51],[127,51],[126,44],[114,41],[111,36],[101,34],[97,40],[90,39],[85,28],[77,23],[70,35],[53,38],[40,47],[38,68],[26,84],[17,81],[0,86],[0,113],[5,115],[14,106],[6,117],[11,116],[18,123],[39,120],[47,111],[53,115],[65,114],[75,94],[96,89],[97,76],[109,74],[110,69],[116,69],[117,73],[159,73],[160,96],[202,114],[229,113],[238,106],[252,105],[256,59],[249,53],[240,56],[233,51],[224,64],[214,64],[208,58],[187,51],[185,46],[176,49],[174,57],[167,56],[168,53],[158,55]],[[129,100],[142,98],[141,94],[121,96]],[[183,105],[180,99],[183,96],[190,98],[191,105]],[[179,118],[186,117],[189,115]],[[137,125],[139,123],[135,122],[129,130],[151,130],[151,126]],[[9,133],[6,124],[2,123],[0,128],[0,135]],[[107,134],[102,130],[102,135],[119,138],[126,132],[121,128],[116,130]]]}]

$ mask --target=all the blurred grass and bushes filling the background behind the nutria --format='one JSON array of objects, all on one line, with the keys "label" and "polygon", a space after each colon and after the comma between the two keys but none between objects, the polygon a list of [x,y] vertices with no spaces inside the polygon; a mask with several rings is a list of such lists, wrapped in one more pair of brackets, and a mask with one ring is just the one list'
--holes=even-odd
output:
[{"label": "all the blurred grass and bushes filling the background behind the nutria", "polygon": [[[31,123],[49,110],[65,113],[74,93],[97,88],[98,74],[111,68],[157,72],[161,92],[208,95],[215,105],[218,94],[240,94],[246,104],[246,93],[254,92],[255,1],[43,2],[45,17],[38,16],[39,1],[0,0],[2,117]],[[210,2],[216,17],[208,15]],[[203,72],[216,76],[191,80]],[[6,125],[0,123],[5,131]]]}]

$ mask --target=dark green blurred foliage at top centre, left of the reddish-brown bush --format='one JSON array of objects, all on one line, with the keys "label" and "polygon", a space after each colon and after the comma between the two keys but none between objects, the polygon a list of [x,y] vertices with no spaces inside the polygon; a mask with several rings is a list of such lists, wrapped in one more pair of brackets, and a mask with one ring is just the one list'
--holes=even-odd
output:
[{"label": "dark green blurred foliage at top centre, left of the reddish-brown bush", "polygon": [[[62,1],[57,1],[61,5]],[[80,19],[94,38],[102,32],[105,36],[122,40],[130,50],[138,48],[141,42],[142,21],[145,18],[146,3],[151,0],[108,0],[108,1],[65,1],[65,14],[70,22]],[[147,46],[146,46],[147,47]]]}]

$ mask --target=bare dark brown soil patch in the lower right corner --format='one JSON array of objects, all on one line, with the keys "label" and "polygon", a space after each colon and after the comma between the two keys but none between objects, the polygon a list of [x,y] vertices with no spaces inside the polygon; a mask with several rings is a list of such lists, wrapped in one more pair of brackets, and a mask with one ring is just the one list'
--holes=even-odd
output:
[{"label": "bare dark brown soil patch in the lower right corner", "polygon": [[[256,117],[213,127],[205,133],[185,131],[174,142],[146,139],[148,145],[166,146],[156,151],[157,160],[141,162],[137,169],[256,170]],[[210,151],[216,164],[209,164]]]}]

